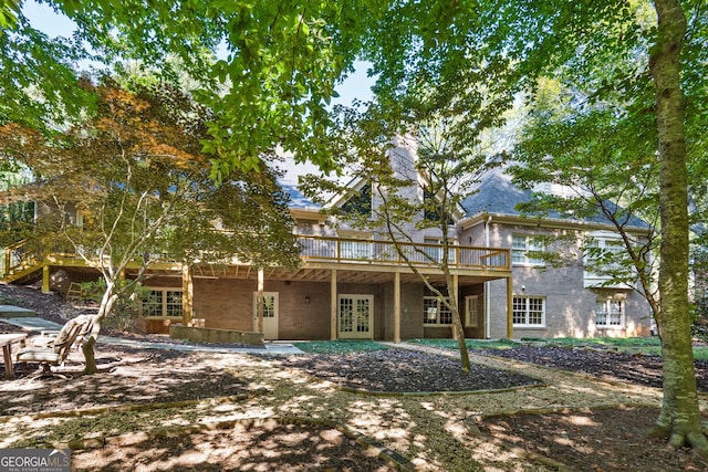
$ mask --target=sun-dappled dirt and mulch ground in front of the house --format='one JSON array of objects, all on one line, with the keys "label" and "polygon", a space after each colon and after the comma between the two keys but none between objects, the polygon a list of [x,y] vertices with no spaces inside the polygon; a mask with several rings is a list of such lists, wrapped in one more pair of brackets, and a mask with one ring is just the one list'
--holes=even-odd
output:
[{"label": "sun-dappled dirt and mulch ground in front of the house", "polygon": [[[31,289],[0,284],[0,296],[54,319],[81,310]],[[18,369],[0,384],[0,448],[74,441],[74,469],[105,471],[708,470],[646,436],[660,359],[501,354],[473,352],[477,370],[459,376],[429,352],[281,358],[100,345],[97,376],[81,375],[73,353],[66,379]],[[707,371],[697,364],[701,391]],[[410,395],[420,391],[436,394]]]}]

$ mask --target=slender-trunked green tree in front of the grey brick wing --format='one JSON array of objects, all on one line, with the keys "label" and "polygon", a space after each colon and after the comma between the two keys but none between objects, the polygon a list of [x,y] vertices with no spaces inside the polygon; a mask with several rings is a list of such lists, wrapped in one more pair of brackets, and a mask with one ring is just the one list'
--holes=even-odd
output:
[{"label": "slender-trunked green tree in front of the grey brick wing", "polygon": [[516,148],[516,164],[508,170],[524,188],[552,182],[566,189],[562,195],[539,192],[521,206],[522,211],[558,212],[610,224],[624,251],[595,247],[586,238],[585,265],[605,277],[607,286],[635,289],[658,321],[656,133],[650,116],[617,113],[618,97],[611,102],[605,94],[603,98],[594,104],[576,87],[541,80]]}]

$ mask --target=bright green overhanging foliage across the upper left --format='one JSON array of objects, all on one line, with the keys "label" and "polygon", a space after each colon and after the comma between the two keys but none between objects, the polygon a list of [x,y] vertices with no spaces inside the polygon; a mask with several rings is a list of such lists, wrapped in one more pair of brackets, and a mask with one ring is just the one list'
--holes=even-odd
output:
[{"label": "bright green overhanging foliage across the upper left", "polygon": [[0,120],[22,118],[52,130],[65,116],[79,116],[90,101],[75,86],[74,69],[85,59],[106,67],[137,60],[166,77],[175,76],[177,63],[198,78],[195,95],[214,113],[204,145],[218,157],[217,179],[235,168],[261,168],[262,153],[278,144],[299,159],[329,165],[334,86],[361,44],[361,11],[381,10],[368,1],[42,3],[73,20],[76,31],[50,39],[21,11],[0,30]]}]

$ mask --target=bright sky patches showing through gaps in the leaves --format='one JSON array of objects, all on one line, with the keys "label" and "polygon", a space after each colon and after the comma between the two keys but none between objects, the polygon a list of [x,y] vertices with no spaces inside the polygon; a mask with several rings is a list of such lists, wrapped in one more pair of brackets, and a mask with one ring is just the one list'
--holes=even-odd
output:
[{"label": "bright sky patches showing through gaps in the leaves", "polygon": [[[49,6],[37,3],[34,0],[27,0],[22,11],[32,27],[52,38],[69,36],[75,27],[69,18],[56,14]],[[340,97],[333,99],[333,103],[350,105],[355,98],[361,101],[372,98],[371,86],[374,80],[366,76],[367,64],[357,62],[355,69],[355,72],[336,87]]]}]

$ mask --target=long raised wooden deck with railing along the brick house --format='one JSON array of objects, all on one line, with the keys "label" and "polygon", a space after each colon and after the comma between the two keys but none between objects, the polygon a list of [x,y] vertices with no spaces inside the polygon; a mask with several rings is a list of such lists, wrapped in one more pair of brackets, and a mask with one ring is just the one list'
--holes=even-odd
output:
[{"label": "long raised wooden deck with railing along the brick house", "polygon": [[[267,268],[267,279],[327,281],[332,270],[340,271],[342,282],[382,283],[399,273],[404,282],[414,281],[420,274],[441,277],[441,265],[447,264],[452,274],[468,283],[478,283],[511,276],[510,250],[454,245],[447,251],[440,244],[396,244],[383,240],[352,238],[298,237],[301,264],[295,269]],[[174,273],[183,264],[165,254],[152,258],[150,271]],[[20,242],[6,248],[4,282],[15,282],[37,275],[44,266],[90,269],[91,264],[77,254],[58,253],[43,258],[24,250]],[[136,263],[137,268],[137,263]],[[195,276],[256,279],[257,270],[248,262],[231,260],[222,263],[192,264]]]}]

